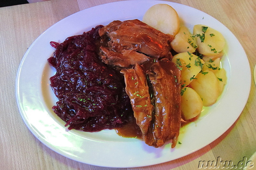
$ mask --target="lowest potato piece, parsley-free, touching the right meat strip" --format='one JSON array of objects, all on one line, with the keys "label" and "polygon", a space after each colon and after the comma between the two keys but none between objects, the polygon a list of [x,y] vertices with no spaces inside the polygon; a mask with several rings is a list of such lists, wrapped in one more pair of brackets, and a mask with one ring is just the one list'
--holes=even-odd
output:
[{"label": "lowest potato piece, parsley-free, touching the right meat strip", "polygon": [[185,120],[192,119],[199,115],[203,108],[203,101],[195,90],[186,87],[181,96],[181,113]]}]

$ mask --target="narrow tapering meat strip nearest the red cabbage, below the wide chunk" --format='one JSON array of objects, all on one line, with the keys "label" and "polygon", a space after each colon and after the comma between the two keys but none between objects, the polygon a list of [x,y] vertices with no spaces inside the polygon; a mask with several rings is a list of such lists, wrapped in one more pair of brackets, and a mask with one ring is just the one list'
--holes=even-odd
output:
[{"label": "narrow tapering meat strip nearest the red cabbage, below the wide chunk", "polygon": [[146,75],[138,63],[135,64],[134,69],[122,69],[121,73],[124,74],[125,90],[131,100],[136,124],[140,127],[142,137],[145,140],[153,110]]}]

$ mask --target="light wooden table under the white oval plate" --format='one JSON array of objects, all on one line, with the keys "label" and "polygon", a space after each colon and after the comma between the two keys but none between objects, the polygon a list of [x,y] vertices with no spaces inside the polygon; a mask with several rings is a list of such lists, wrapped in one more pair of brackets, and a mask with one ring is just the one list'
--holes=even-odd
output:
[{"label": "light wooden table under the white oval plate", "polygon": [[[116,0],[52,0],[0,8],[0,167],[3,170],[115,169],[76,162],[52,151],[24,124],[15,97],[20,61],[30,44],[47,28],[77,11]],[[234,33],[256,64],[254,0],[170,0],[204,11]],[[243,71],[243,68],[237,68]],[[252,78],[253,80],[253,78]],[[228,103],[227,103],[228,104]],[[154,166],[124,169],[197,169],[200,160],[217,157],[234,163],[256,151],[256,90],[252,81],[247,104],[237,121],[217,140],[188,156]],[[255,163],[256,164],[256,163]],[[123,168],[116,168],[123,169]],[[218,169],[218,168],[217,168]],[[220,169],[220,168],[219,168]]]}]

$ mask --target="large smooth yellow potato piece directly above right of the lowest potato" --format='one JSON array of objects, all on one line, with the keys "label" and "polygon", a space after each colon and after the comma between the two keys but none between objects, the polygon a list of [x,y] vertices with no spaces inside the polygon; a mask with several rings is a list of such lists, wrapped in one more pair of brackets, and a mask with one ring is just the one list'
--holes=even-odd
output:
[{"label": "large smooth yellow potato piece directly above right of the lowest potato", "polygon": [[207,74],[197,74],[189,86],[194,89],[203,100],[204,106],[214,104],[219,96],[219,84],[215,74],[210,70],[205,70]]}]

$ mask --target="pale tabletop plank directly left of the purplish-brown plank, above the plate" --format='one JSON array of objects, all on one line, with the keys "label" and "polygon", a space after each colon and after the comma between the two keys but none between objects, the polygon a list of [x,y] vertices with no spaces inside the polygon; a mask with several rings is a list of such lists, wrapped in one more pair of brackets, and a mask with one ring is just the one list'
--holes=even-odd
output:
[{"label": "pale tabletop plank directly left of the purplish-brown plank, above the plate", "polygon": [[12,12],[21,59],[32,42],[56,21],[51,1],[16,5],[12,7]]}]

